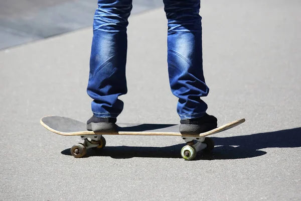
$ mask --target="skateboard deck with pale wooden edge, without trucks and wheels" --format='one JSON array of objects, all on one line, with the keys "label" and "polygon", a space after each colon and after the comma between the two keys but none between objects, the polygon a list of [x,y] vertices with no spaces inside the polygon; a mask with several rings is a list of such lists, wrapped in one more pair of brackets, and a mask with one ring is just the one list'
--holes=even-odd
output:
[{"label": "skateboard deck with pale wooden edge, without trucks and wheels", "polygon": [[47,116],[41,119],[41,124],[49,131],[64,136],[83,135],[162,135],[162,136],[189,136],[205,137],[213,135],[245,122],[245,119],[233,121],[211,131],[195,134],[182,135],[177,124],[117,124],[117,132],[93,132],[87,131],[86,124],[74,119],[59,116]]}]

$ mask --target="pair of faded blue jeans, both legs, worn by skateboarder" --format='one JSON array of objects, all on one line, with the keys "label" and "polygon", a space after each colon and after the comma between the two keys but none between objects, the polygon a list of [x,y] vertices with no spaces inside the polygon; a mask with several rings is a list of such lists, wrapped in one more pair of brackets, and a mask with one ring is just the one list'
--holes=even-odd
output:
[{"label": "pair of faded blue jeans, both legs, worn by skateboarder", "polygon": [[[207,104],[200,98],[209,88],[203,75],[200,0],[164,0],[168,19],[168,72],[170,87],[179,98],[181,119],[202,117]],[[132,0],[98,0],[94,15],[90,73],[87,87],[96,117],[116,118],[126,94],[128,17]]]}]

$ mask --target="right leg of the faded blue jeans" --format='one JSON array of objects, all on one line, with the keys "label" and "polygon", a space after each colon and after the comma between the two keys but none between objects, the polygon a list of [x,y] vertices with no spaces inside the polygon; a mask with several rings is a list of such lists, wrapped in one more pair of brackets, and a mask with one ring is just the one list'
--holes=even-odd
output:
[{"label": "right leg of the faded blue jeans", "polygon": [[202,117],[207,104],[200,98],[209,88],[203,75],[200,0],[164,0],[168,19],[168,71],[173,94],[179,98],[181,119]]}]

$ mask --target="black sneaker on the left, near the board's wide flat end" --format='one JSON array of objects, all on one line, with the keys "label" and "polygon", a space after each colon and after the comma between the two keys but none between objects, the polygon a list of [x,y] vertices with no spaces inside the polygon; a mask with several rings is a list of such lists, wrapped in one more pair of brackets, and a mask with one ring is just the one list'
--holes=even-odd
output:
[{"label": "black sneaker on the left, near the board's wide flat end", "polygon": [[94,115],[87,121],[87,130],[94,132],[116,132],[116,118],[98,118]]}]

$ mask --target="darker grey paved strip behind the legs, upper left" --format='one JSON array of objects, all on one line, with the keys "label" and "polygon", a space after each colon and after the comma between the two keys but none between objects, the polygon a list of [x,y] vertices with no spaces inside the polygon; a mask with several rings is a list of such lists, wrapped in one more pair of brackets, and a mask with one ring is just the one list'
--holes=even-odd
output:
[{"label": "darker grey paved strip behind the legs, upper left", "polygon": [[[131,14],[163,5],[158,0],[134,0]],[[0,49],[89,27],[96,0],[0,1]]]}]

